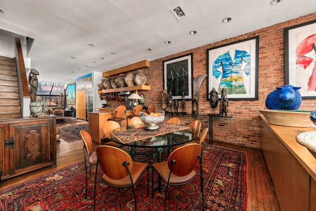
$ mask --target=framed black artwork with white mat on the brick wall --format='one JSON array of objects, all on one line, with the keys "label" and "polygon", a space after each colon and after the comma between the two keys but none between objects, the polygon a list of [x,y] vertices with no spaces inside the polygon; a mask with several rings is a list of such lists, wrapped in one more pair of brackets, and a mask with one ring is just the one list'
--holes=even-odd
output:
[{"label": "framed black artwork with white mat on the brick wall", "polygon": [[192,99],[193,53],[163,61],[163,88],[174,100]]}]

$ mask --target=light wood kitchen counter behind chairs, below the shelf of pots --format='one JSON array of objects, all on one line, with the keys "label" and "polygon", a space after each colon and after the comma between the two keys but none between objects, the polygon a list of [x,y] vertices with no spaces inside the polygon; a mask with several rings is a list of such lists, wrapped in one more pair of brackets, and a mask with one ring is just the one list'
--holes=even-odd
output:
[{"label": "light wood kitchen counter behind chairs, below the shelf of pots", "polygon": [[[133,110],[127,110],[126,115],[134,114]],[[96,143],[101,143],[103,139],[103,126],[108,119],[114,118],[114,109],[102,108],[102,111],[89,112],[89,133],[91,135],[92,141]],[[121,121],[121,127],[126,126],[126,121]]]}]

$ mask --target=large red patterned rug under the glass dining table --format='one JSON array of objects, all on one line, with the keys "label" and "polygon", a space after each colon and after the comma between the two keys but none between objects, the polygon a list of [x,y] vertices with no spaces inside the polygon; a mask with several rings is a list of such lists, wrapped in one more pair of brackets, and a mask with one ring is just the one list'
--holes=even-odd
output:
[{"label": "large red patterned rug under the glass dining table", "polygon": [[[245,152],[204,145],[203,178],[205,211],[244,211],[247,203],[247,155]],[[153,159],[136,156],[139,162]],[[94,172],[88,179],[88,197],[85,196],[84,164],[54,171],[37,179],[0,191],[1,211],[88,211],[93,209]],[[150,169],[150,180],[151,180]],[[162,211],[164,192],[155,191],[147,197],[147,171],[136,183],[138,211]],[[98,171],[98,178],[102,175]],[[154,175],[157,184],[157,174]],[[151,190],[150,181],[150,191]],[[162,183],[162,187],[164,183]],[[168,190],[167,210],[201,211],[201,193],[198,177],[189,184],[172,186]],[[97,183],[97,207],[102,211],[134,210],[132,189],[109,187]]]}]

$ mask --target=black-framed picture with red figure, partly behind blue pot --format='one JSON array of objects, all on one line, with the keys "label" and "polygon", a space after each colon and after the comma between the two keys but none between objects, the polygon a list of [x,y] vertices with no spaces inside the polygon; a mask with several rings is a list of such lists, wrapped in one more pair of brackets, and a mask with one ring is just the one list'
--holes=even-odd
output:
[{"label": "black-framed picture with red figure, partly behind blue pot", "polygon": [[316,99],[315,42],[316,20],[284,29],[285,84],[301,87],[302,99]]}]

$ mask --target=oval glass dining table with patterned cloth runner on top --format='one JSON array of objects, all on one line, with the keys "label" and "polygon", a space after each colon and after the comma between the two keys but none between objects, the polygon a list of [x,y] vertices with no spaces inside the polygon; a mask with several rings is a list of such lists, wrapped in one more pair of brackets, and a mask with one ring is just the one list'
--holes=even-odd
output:
[{"label": "oval glass dining table with patterned cloth runner on top", "polygon": [[[134,155],[153,156],[155,162],[161,162],[162,152],[174,146],[188,143],[197,138],[197,131],[191,127],[174,124],[161,124],[156,130],[148,130],[146,124],[120,127],[110,133],[110,139],[116,143],[131,147]],[[137,152],[137,148],[156,148],[155,152]],[[158,159],[156,159],[156,156]]]}]

